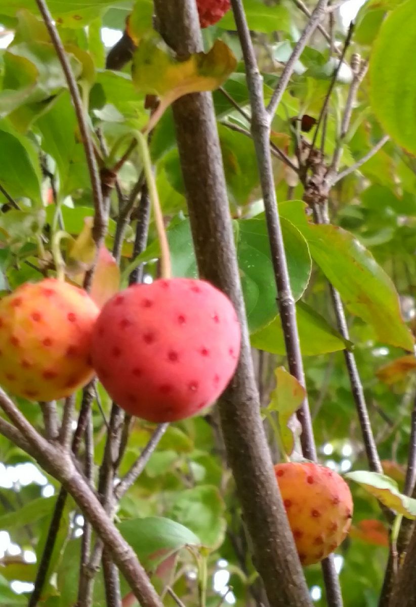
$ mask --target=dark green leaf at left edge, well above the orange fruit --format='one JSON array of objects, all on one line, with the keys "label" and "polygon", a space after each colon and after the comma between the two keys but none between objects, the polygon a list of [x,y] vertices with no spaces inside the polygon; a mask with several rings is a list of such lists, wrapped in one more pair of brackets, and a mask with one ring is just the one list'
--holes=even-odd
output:
[{"label": "dark green leaf at left edge, well above the orange fruit", "polygon": [[0,183],[12,198],[26,196],[41,204],[39,166],[33,163],[29,140],[3,130],[0,124]]}]

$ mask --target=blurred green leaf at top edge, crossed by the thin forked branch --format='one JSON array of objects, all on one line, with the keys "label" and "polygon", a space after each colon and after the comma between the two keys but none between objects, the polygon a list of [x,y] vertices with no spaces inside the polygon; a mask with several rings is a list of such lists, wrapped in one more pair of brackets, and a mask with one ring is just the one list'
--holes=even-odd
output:
[{"label": "blurred green leaf at top edge, crossed by the thin forked branch", "polygon": [[[281,4],[264,4],[261,0],[244,0],[244,11],[248,27],[255,32],[272,33],[290,30],[290,16]],[[229,11],[218,24],[225,30],[235,30],[233,13]]]}]

